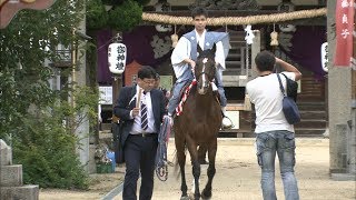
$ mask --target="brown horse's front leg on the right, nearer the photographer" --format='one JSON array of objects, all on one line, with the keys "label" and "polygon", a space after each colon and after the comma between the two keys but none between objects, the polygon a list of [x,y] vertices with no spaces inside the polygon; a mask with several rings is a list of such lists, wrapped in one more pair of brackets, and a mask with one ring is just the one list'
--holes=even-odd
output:
[{"label": "brown horse's front leg on the right, nearer the photographer", "polygon": [[217,151],[217,140],[215,140],[208,148],[208,158],[209,158],[209,167],[208,167],[208,182],[205,187],[205,189],[201,192],[202,199],[209,199],[211,198],[211,184],[212,184],[212,178],[215,176],[216,169],[215,169],[215,158],[216,158],[216,151]]}]

